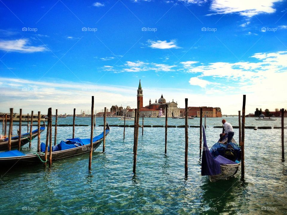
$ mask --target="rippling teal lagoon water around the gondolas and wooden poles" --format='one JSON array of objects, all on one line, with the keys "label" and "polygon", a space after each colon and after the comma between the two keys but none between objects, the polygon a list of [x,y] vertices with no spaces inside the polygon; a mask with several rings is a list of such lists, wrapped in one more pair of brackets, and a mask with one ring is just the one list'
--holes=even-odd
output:
[{"label": "rippling teal lagoon water around the gondolas and wooden poles", "polygon": [[[226,119],[238,125],[237,117]],[[123,124],[117,118],[107,121]],[[90,118],[76,118],[76,124],[90,122]],[[96,123],[103,124],[103,118],[96,118]],[[126,123],[132,125],[133,121]],[[164,123],[164,118],[144,119],[145,125]],[[199,125],[199,118],[189,119],[188,123]],[[72,124],[72,117],[60,118],[58,124]],[[184,119],[169,118],[168,124],[184,125]],[[246,118],[245,124],[273,128],[281,126],[281,121]],[[212,127],[220,125],[221,118],[207,118],[209,146],[219,139],[222,131]],[[17,126],[13,129],[16,133]],[[97,126],[94,133],[102,130],[103,127]],[[238,129],[234,130],[234,139],[238,140]],[[144,128],[144,136],[139,128],[134,176],[133,128],[126,128],[123,140],[123,128],[111,127],[106,152],[101,152],[100,145],[93,153],[91,171],[86,154],[55,161],[51,168],[45,169],[40,164],[1,173],[0,214],[287,214],[287,168],[286,162],[281,161],[280,129],[245,129],[245,181],[233,178],[216,183],[201,176],[199,128],[189,128],[188,132],[187,179],[184,128],[168,128],[167,155],[164,155],[164,128]],[[58,127],[58,140],[71,135],[72,127]],[[42,142],[45,136],[43,132]],[[76,127],[75,136],[89,137],[90,127]],[[36,151],[36,144],[34,140],[32,151]]]}]

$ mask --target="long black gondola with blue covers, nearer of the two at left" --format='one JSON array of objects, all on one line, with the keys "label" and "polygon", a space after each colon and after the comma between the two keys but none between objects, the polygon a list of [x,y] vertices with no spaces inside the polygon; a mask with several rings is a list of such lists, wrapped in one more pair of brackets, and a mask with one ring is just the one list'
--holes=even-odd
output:
[{"label": "long black gondola with blue covers, nearer of the two at left", "polygon": [[[106,136],[109,134],[110,128],[106,125]],[[93,150],[97,149],[103,141],[102,132],[100,135],[93,138]],[[90,151],[90,138],[80,139],[66,139],[61,141],[58,145],[52,148],[52,161],[74,157],[80,154],[88,153]],[[49,148],[48,148],[49,157]],[[37,164],[45,161],[45,144],[41,144],[41,152],[24,154],[18,150],[1,152],[0,153],[0,166],[11,167],[13,165],[29,165]]]}]

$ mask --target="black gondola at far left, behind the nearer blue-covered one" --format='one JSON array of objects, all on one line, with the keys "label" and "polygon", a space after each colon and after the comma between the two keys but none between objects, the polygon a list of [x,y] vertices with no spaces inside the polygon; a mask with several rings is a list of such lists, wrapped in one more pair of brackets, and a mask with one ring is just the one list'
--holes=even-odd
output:
[{"label": "black gondola at far left, behind the nearer blue-covered one", "polygon": [[[45,130],[46,124],[45,122],[40,127],[40,133],[42,133]],[[32,131],[32,138],[34,139],[38,135],[38,128]],[[30,133],[24,133],[21,135],[21,146],[27,144],[30,142]],[[13,136],[11,137],[11,148],[17,148],[19,143],[19,136]],[[0,151],[7,150],[8,149],[8,137],[6,139],[0,139]]]}]

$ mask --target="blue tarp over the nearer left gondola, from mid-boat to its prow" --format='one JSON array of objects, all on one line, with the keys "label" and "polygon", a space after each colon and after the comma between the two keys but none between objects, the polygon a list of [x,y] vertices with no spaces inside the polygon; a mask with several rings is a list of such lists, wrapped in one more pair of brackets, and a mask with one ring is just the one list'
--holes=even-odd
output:
[{"label": "blue tarp over the nearer left gondola, from mid-boat to its prow", "polygon": [[[106,130],[106,134],[109,133],[109,130]],[[104,133],[101,133],[98,136],[95,136],[93,138],[93,142],[96,142],[100,139],[102,139],[104,136]],[[83,145],[87,145],[90,144],[91,139],[87,138],[87,139],[80,139],[80,138],[72,138],[72,139],[65,139],[62,140],[59,144],[52,146],[52,152],[53,151],[62,151],[65,149],[70,149],[70,148],[76,148],[79,146],[83,146]],[[45,143],[41,143],[41,152],[45,152],[46,149],[46,144]],[[48,151],[50,151],[50,147],[48,146]]]}]

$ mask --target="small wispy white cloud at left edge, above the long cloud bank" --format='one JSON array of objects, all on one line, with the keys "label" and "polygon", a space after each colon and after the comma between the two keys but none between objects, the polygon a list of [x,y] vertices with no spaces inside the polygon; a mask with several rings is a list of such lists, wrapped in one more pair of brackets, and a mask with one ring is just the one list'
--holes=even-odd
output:
[{"label": "small wispy white cloud at left edge, above the long cloud bank", "polygon": [[0,50],[15,51],[21,53],[43,52],[46,48],[43,46],[29,46],[28,39],[18,40],[0,40]]}]

